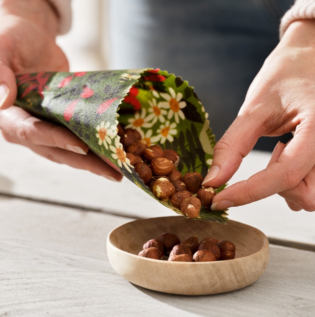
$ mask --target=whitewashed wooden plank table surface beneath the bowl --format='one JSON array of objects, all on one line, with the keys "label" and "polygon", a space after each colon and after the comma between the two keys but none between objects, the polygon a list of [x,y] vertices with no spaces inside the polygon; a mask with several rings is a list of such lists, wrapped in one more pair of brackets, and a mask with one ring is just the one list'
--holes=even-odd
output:
[{"label": "whitewashed wooden plank table surface beneath the bowl", "polygon": [[[270,245],[264,274],[229,293],[179,296],[129,283],[108,262],[108,232],[135,218],[173,213],[127,180],[113,184],[2,139],[0,147],[1,317],[314,315],[315,252],[296,248]],[[250,153],[229,183],[268,158]],[[269,237],[315,245],[315,213],[292,212],[280,197],[229,214]]]}]

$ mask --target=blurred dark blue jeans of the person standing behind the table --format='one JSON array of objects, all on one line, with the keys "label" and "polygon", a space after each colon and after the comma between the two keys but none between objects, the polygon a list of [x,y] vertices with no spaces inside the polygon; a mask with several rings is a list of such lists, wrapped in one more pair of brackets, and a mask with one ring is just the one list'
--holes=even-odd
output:
[{"label": "blurred dark blue jeans of the person standing behind the table", "polygon": [[[277,45],[280,18],[293,2],[111,0],[109,67],[158,67],[188,80],[218,140]],[[272,151],[278,141],[262,139],[255,148]]]}]

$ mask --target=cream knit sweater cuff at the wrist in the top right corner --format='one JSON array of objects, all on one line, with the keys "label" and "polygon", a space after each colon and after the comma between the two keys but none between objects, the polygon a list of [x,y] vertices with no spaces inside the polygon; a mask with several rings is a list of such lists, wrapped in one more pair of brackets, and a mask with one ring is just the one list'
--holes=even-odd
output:
[{"label": "cream knit sweater cuff at the wrist in the top right corner", "polygon": [[285,13],[280,23],[280,39],[288,26],[301,19],[315,19],[315,0],[296,0],[289,11]]}]

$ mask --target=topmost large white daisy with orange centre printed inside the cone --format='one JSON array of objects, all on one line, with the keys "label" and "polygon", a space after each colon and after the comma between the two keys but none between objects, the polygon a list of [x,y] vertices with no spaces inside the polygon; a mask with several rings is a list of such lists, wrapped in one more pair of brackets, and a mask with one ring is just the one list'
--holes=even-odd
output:
[{"label": "topmost large white daisy with orange centre printed inside the cone", "polygon": [[167,119],[171,119],[174,116],[175,122],[179,123],[179,117],[184,120],[185,115],[181,111],[181,109],[186,107],[185,101],[180,101],[182,98],[181,93],[175,93],[175,91],[169,87],[169,94],[160,93],[160,96],[166,101],[160,101],[158,106],[163,109],[169,109],[167,114]]}]

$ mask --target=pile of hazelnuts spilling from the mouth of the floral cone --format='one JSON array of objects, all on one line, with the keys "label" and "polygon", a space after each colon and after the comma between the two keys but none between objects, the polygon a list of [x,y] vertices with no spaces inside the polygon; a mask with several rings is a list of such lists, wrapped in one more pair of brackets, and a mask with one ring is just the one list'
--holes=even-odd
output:
[{"label": "pile of hazelnuts spilling from the mouth of the floral cone", "polygon": [[162,150],[158,145],[148,147],[138,131],[123,129],[120,124],[117,128],[126,157],[155,197],[170,201],[190,218],[199,216],[201,205],[207,208],[211,206],[216,194],[214,189],[203,188],[203,177],[197,172],[182,176],[176,170],[179,155],[175,151]]}]

